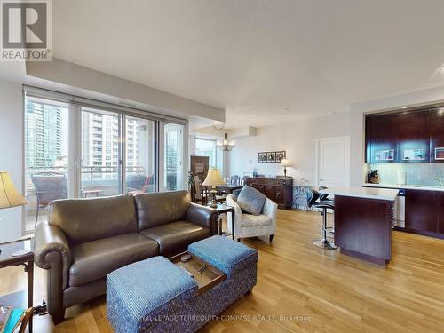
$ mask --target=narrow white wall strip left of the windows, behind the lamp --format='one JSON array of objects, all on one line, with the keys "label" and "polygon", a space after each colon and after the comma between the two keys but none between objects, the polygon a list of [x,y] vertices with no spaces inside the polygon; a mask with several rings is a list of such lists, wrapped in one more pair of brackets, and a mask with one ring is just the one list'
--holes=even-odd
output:
[{"label": "narrow white wall strip left of the windows, behind the lamp", "polygon": [[[20,83],[0,81],[0,170],[10,172],[22,190],[22,88]],[[21,207],[0,210],[0,242],[21,237]]]}]

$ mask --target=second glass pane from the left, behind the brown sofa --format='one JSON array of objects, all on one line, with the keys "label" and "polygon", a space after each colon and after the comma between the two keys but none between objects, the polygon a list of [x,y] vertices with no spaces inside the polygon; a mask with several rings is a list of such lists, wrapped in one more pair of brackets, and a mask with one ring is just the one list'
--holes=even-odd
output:
[{"label": "second glass pane from the left, behind the brown sofa", "polygon": [[122,193],[122,117],[82,107],[80,196]]}]

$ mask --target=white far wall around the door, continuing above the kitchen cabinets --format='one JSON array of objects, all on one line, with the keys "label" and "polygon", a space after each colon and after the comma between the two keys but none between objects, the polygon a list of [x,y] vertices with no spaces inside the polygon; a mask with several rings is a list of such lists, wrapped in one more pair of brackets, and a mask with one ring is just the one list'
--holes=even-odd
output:
[{"label": "white far wall around the door, continuing above the kitchen cabinets", "polygon": [[364,180],[364,113],[416,107],[444,101],[444,88],[415,91],[385,99],[353,104],[350,112],[328,115],[296,123],[258,128],[258,135],[235,139],[229,154],[227,170],[231,175],[244,172],[275,176],[283,175],[280,163],[258,163],[258,152],[286,150],[292,167],[288,175],[296,184],[313,186],[315,174],[315,141],[319,138],[350,136],[350,185],[361,186]]}]

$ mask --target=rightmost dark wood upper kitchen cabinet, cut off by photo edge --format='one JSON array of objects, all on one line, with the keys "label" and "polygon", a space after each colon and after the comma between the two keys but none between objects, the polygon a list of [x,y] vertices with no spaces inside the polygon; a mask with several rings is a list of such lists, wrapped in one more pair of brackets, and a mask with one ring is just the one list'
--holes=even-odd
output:
[{"label": "rightmost dark wood upper kitchen cabinet, cut off by photo edge", "polygon": [[444,162],[444,107],[430,111],[430,160]]}]

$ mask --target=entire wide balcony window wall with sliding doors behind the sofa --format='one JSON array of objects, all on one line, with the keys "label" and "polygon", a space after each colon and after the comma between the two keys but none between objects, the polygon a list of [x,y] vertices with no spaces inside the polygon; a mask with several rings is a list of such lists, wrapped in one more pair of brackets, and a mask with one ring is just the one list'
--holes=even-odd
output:
[{"label": "entire wide balcony window wall with sliding doors behind the sofa", "polygon": [[47,218],[46,208],[55,199],[184,187],[183,123],[49,95],[42,99],[26,92],[24,231]]}]

